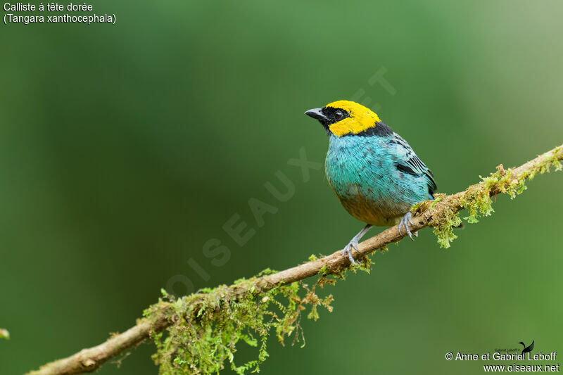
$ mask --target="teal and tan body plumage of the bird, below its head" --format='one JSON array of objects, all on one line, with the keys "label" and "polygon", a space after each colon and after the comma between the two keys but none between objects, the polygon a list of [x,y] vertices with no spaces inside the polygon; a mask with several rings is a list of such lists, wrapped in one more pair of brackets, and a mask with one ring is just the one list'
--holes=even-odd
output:
[{"label": "teal and tan body plumage of the bird, below its head", "polygon": [[[433,199],[434,179],[404,139],[330,135],[325,160],[328,182],[350,215],[379,227],[398,223],[410,207]],[[402,166],[402,167],[400,167]],[[410,170],[407,170],[408,167]],[[410,172],[412,170],[412,172]],[[414,173],[413,173],[414,172]]]}]

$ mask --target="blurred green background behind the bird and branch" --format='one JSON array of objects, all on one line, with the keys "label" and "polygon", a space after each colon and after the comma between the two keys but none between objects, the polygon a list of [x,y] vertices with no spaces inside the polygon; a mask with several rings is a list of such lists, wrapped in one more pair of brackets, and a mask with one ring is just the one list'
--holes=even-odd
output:
[{"label": "blurred green background behind the bird and branch", "polygon": [[[324,160],[309,108],[368,104],[447,193],[563,142],[557,1],[106,0],[94,11],[117,24],[0,26],[0,327],[12,336],[1,374],[125,331],[161,287],[183,294],[347,243],[362,224],[324,172],[303,182],[287,164],[303,146]],[[369,81],[381,69],[393,90]],[[281,189],[278,170],[296,186],[284,203],[264,187]],[[563,350],[562,183],[541,176],[500,197],[449,250],[426,229],[375,255],[371,275],[324,291],[335,310],[305,319],[305,348],[270,340],[262,371],[476,374],[483,362],[445,352]],[[278,208],[263,227],[250,198]],[[255,229],[242,247],[222,229],[235,214]],[[220,267],[202,253],[209,239],[230,249]],[[156,374],[153,349],[98,374]]]}]

